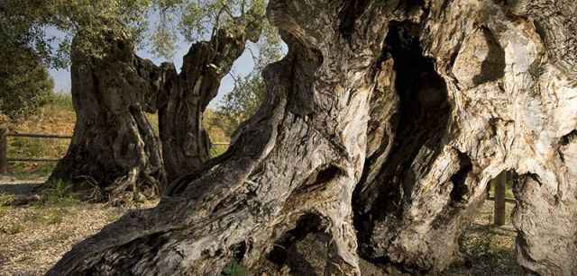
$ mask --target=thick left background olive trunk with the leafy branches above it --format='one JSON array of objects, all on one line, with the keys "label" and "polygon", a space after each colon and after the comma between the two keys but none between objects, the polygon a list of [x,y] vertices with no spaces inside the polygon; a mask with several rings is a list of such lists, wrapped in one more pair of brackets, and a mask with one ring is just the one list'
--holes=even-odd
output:
[{"label": "thick left background olive trunk with the leafy branches above it", "polygon": [[[145,179],[142,193],[153,194],[164,174],[159,169],[160,152],[142,111],[156,105],[151,91],[159,86],[153,79],[158,76],[142,75],[153,65],[133,56],[133,40],[141,31],[127,26],[143,22],[147,4],[6,0],[0,5],[2,34],[7,40],[2,47],[6,54],[3,59],[23,58],[14,62],[20,67],[35,63],[64,68],[73,61],[73,101],[75,109],[80,110],[77,131],[69,155],[52,179],[82,176],[91,181],[110,181],[119,185],[110,185],[116,187],[106,191],[116,193],[140,177]],[[72,37],[75,39],[70,42]],[[14,55],[14,49],[25,49],[25,55]],[[8,64],[3,62],[5,66]],[[31,79],[18,73],[13,74],[24,81]],[[38,74],[28,72],[34,73]],[[34,97],[23,102],[33,104]],[[70,152],[77,155],[70,156]],[[105,170],[110,174],[100,174]],[[119,174],[120,179],[116,178]]]}]

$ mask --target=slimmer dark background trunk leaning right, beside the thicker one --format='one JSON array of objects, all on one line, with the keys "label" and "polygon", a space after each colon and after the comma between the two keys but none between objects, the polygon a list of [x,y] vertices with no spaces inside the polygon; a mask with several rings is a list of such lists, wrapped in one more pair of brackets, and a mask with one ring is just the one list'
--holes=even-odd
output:
[{"label": "slimmer dark background trunk leaning right, beside the thicker one", "polygon": [[[247,13],[246,18],[258,17]],[[215,98],[221,79],[245,49],[246,40],[256,40],[259,26],[245,17],[237,20],[247,27],[215,31],[209,41],[195,43],[184,57],[182,70],[168,69],[165,91],[160,95],[159,123],[162,154],[169,182],[194,172],[206,160],[210,138],[203,127],[203,113]],[[169,68],[169,67],[167,67]]]}]

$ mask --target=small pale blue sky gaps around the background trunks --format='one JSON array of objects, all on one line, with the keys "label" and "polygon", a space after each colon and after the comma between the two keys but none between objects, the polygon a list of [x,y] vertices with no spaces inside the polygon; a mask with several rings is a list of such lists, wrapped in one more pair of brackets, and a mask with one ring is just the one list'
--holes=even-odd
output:
[{"label": "small pale blue sky gaps around the background trunks", "polygon": [[[249,42],[250,43],[250,42]],[[184,40],[179,40],[177,43],[177,49],[175,49],[174,53],[174,62],[175,67],[180,72],[180,67],[182,67],[182,58],[184,55],[187,54],[188,49],[190,48],[191,43],[188,43]],[[141,58],[148,58],[151,59],[156,65],[160,65],[163,61],[166,61],[164,58],[157,58],[151,54],[148,49],[141,49],[136,50],[136,54]],[[246,75],[252,71],[254,67],[254,62],[252,61],[252,57],[248,50],[245,50],[241,58],[238,58],[234,62],[233,70],[235,75]],[[55,83],[55,91],[57,93],[69,93],[70,92],[70,72],[69,70],[55,70],[50,69],[50,76],[54,79]],[[215,99],[210,102],[209,106],[215,108],[218,102],[221,101],[224,94],[229,93],[233,90],[234,83],[233,78],[229,75],[224,76],[223,81],[221,82],[220,89],[218,90],[218,94],[216,95]]]}]

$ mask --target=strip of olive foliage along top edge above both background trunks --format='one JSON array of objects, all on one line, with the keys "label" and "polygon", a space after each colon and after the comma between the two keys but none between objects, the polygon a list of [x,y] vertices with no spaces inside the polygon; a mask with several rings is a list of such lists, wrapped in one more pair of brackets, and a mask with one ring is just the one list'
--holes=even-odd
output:
[{"label": "strip of olive foliage along top edge above both background trunks", "polygon": [[155,54],[170,58],[178,35],[207,39],[221,28],[263,22],[265,10],[265,0],[3,0],[0,51],[68,67],[72,38],[81,33],[75,51],[87,56],[101,57],[109,38],[128,36],[141,46],[150,42]]}]

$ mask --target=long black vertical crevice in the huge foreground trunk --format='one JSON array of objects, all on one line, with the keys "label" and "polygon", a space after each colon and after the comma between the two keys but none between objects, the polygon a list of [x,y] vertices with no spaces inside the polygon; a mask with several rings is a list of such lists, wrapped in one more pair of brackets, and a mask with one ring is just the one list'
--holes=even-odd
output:
[{"label": "long black vertical crevice in the huge foreground trunk", "polygon": [[[392,147],[378,177],[371,183],[363,183],[367,179],[362,179],[353,195],[359,254],[367,259],[382,256],[372,247],[374,223],[389,215],[398,218],[403,215],[402,206],[410,200],[414,174],[425,174],[419,170],[427,170],[426,164],[415,164],[415,159],[423,148],[430,150],[425,160],[435,159],[451,110],[444,80],[435,72],[433,62],[423,57],[417,38],[403,25],[406,24],[390,24],[383,53],[393,59],[394,89],[399,98],[397,113],[392,118],[396,121]],[[370,156],[366,163],[371,164],[378,157]]]}]

